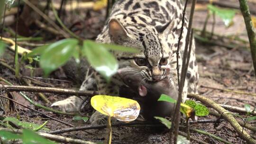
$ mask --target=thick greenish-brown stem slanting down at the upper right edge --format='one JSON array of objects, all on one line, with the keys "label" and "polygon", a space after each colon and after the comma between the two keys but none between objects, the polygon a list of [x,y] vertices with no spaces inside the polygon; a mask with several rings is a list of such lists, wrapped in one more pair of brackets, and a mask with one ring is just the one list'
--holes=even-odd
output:
[{"label": "thick greenish-brown stem slanting down at the upper right edge", "polygon": [[247,4],[247,0],[239,0],[239,4],[240,4],[240,9],[246,24],[246,30],[247,30],[247,34],[250,42],[254,72],[256,77],[256,34],[254,32],[254,27],[252,25],[252,19],[251,19],[251,14]]}]

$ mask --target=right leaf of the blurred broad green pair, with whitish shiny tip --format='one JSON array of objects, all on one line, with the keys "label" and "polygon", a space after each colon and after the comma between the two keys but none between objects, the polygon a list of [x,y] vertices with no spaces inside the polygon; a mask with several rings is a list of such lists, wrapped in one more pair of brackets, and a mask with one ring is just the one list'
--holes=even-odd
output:
[{"label": "right leaf of the blurred broad green pair, with whitish shiny tip", "polygon": [[106,81],[118,70],[118,62],[105,46],[98,45],[91,40],[83,41],[82,53],[86,56],[91,66],[98,71]]}]

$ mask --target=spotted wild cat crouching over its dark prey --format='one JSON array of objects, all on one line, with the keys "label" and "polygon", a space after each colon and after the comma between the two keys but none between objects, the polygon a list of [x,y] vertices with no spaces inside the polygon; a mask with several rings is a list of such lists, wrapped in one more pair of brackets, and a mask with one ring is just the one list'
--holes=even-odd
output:
[{"label": "spotted wild cat crouching over its dark prey", "polygon": [[[137,48],[139,53],[136,54],[113,52],[119,61],[119,68],[131,69],[141,75],[143,81],[161,81],[168,76],[170,83],[178,88],[176,50],[181,32],[182,12],[181,0],[118,0],[96,41]],[[188,21],[185,18],[179,64],[182,63],[187,26]],[[166,72],[167,69],[170,72]],[[187,92],[197,91],[198,76],[193,44],[183,100],[186,99]],[[119,95],[119,88],[124,85],[118,75],[113,76],[111,83],[107,83],[95,72],[94,77],[83,82],[80,90],[92,89],[95,82],[100,94],[112,96]],[[82,99],[72,96],[55,102],[53,106],[71,112],[78,111],[81,102]],[[94,120],[95,118],[92,119]]]}]

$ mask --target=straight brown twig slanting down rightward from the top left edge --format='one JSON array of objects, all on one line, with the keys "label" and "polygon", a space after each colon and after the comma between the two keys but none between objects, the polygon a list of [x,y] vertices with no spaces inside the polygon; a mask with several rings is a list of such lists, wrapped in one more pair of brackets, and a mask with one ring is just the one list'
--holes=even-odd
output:
[{"label": "straight brown twig slanting down rightward from the top left edge", "polygon": [[35,10],[41,17],[46,19],[48,23],[50,23],[57,31],[59,31],[65,38],[69,38],[69,35],[66,34],[59,26],[55,24],[53,20],[51,20],[48,16],[46,16],[40,9],[38,9],[34,4],[32,4],[28,0],[23,0],[30,8]]}]

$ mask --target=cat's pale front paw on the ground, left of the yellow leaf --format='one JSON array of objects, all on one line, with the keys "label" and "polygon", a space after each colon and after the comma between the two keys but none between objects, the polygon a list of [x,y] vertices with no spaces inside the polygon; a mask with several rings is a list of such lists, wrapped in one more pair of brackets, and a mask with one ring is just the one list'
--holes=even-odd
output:
[{"label": "cat's pale front paw on the ground, left of the yellow leaf", "polygon": [[64,112],[78,112],[81,103],[82,99],[71,96],[67,99],[56,101],[51,107]]}]

